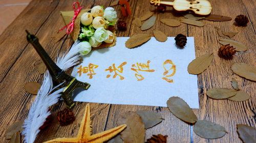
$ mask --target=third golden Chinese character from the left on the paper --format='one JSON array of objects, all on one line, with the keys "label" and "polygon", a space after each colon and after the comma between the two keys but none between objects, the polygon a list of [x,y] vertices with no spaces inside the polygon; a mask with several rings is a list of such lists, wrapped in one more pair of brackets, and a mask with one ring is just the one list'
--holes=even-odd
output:
[{"label": "third golden Chinese character from the left on the paper", "polygon": [[146,64],[141,64],[141,63],[136,63],[132,65],[132,67],[134,68],[131,68],[131,70],[137,72],[135,73],[135,77],[137,78],[138,81],[141,81],[144,79],[144,77],[138,72],[138,71],[144,71],[144,72],[154,72],[155,70],[151,70],[150,69],[150,62],[151,61],[147,61]]}]

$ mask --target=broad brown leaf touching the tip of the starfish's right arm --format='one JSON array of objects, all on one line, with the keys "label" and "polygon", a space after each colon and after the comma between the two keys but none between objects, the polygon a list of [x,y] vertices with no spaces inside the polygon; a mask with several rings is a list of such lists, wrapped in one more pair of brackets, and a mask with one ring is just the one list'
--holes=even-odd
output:
[{"label": "broad brown leaf touching the tip of the starfish's right arm", "polygon": [[118,124],[126,124],[127,127],[121,132],[121,138],[126,143],[143,143],[145,139],[145,127],[141,117],[133,111],[125,112],[118,119]]}]

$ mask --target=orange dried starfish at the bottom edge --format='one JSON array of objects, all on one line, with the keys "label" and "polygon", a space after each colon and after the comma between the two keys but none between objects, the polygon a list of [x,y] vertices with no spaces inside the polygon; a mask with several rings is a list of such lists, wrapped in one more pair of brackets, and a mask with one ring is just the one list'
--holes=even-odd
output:
[{"label": "orange dried starfish at the bottom edge", "polygon": [[55,138],[49,141],[46,141],[44,143],[99,143],[109,140],[110,138],[114,137],[118,133],[120,133],[123,129],[126,128],[126,125],[121,125],[118,127],[115,127],[113,129],[103,131],[101,133],[97,133],[94,135],[91,135],[91,115],[90,115],[90,106],[89,104],[86,105],[86,111],[84,112],[81,125],[78,131],[77,137],[73,138]]}]

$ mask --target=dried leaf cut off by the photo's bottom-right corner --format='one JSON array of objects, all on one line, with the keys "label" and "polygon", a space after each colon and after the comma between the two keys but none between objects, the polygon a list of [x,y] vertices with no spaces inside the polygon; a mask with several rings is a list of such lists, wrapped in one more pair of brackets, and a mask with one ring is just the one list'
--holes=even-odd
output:
[{"label": "dried leaf cut off by the photo's bottom-right corner", "polygon": [[256,129],[247,125],[238,124],[238,134],[244,143],[255,143]]}]

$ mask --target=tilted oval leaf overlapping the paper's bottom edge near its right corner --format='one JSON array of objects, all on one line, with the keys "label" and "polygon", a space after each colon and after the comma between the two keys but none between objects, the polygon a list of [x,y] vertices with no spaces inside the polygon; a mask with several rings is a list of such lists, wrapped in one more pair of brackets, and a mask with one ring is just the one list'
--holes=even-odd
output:
[{"label": "tilted oval leaf overlapping the paper's bottom edge near its right corner", "polygon": [[170,97],[167,100],[169,110],[179,119],[188,123],[197,122],[197,116],[187,105],[187,103],[179,97]]}]

